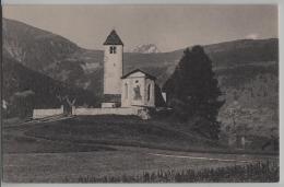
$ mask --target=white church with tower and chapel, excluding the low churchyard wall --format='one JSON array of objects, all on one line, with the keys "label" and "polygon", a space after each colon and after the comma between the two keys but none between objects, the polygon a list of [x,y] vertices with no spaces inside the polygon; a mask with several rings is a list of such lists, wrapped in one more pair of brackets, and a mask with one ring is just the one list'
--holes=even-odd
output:
[{"label": "white church with tower and chapel, excluding the low churchyard wall", "polygon": [[107,107],[155,107],[154,75],[123,72],[123,43],[113,30],[104,43],[104,103]]}]

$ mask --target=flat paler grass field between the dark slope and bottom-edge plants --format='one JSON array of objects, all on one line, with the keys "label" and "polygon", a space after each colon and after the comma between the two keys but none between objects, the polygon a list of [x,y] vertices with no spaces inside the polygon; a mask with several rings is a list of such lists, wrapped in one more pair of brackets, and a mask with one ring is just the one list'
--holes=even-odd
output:
[{"label": "flat paler grass field between the dark slope and bottom-edge plants", "polygon": [[[176,174],[188,170],[198,172],[267,161],[275,163],[275,168],[277,168],[279,162],[277,157],[268,155],[192,153],[133,147],[115,147],[115,151],[72,153],[4,154],[3,180],[16,183],[78,183],[81,179],[82,183],[91,183],[93,177],[96,178],[94,182],[99,182],[105,177],[115,177],[116,180],[120,180],[121,176],[130,176],[131,178],[132,176],[144,176],[145,173],[152,175],[157,174],[161,170],[166,173],[174,170]],[[276,173],[271,172],[267,172],[267,175]],[[91,179],[82,180],[84,178]],[[227,179],[229,182],[233,178],[234,176]],[[218,179],[226,178],[220,175]],[[258,182],[258,179],[259,175],[257,175],[255,182]]]}]

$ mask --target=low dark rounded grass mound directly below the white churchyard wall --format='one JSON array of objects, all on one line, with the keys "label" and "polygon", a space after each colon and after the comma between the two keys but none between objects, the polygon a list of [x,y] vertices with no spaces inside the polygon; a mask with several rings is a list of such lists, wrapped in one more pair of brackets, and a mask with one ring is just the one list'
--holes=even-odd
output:
[{"label": "low dark rounded grass mound directly below the white churchyard wall", "polygon": [[216,142],[202,139],[165,122],[137,117],[76,117],[34,127],[27,136],[75,143],[104,143],[180,150],[218,149]]}]

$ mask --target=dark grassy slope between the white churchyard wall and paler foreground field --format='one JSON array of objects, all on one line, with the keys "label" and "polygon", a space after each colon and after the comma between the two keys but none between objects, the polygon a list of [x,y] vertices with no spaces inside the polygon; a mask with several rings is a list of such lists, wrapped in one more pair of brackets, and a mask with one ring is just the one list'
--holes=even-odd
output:
[{"label": "dark grassy slope between the white churchyard wall and paler foreground field", "polygon": [[[113,145],[215,153],[268,153],[259,139],[246,150],[229,149],[225,141],[208,140],[189,125],[168,119],[141,120],[134,116],[85,116],[29,126],[7,126],[3,150],[16,152],[78,152],[108,150]],[[256,144],[257,143],[257,144]],[[60,151],[62,149],[62,151]]]}]

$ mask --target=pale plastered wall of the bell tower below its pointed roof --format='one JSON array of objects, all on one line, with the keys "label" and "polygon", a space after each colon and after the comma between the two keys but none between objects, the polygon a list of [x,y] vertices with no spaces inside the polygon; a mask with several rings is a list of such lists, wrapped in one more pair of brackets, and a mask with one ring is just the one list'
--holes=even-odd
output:
[{"label": "pale plastered wall of the bell tower below its pointed roof", "polygon": [[121,94],[123,46],[115,45],[116,54],[109,52],[110,46],[105,46],[104,94]]}]

